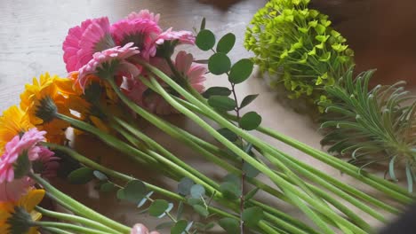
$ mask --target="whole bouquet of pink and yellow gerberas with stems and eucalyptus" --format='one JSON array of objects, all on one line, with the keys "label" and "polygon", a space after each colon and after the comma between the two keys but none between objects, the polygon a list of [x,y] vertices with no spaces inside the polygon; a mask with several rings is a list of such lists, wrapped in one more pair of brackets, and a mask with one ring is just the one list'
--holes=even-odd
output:
[{"label": "whole bouquet of pink and yellow gerberas with stems and eucalyptus", "polygon": [[[258,95],[237,101],[235,87],[251,76],[253,63],[247,58],[231,63],[227,54],[234,47],[235,35],[223,35],[217,42],[205,28],[205,20],[194,33],[164,31],[159,17],[144,10],[113,24],[102,17],[70,28],[63,43],[68,77],[45,73],[34,78],[20,95],[20,106],[4,111],[0,119],[2,233],[148,232],[143,224],[128,227],[55,188],[48,178],[57,175],[58,168],[70,169],[71,183],[95,183],[100,192],[113,192],[135,209],[168,217],[170,222],[162,222],[158,229],[171,233],[216,227],[227,233],[367,233],[373,227],[356,214],[357,209],[388,222],[388,214],[400,214],[404,205],[412,203],[412,194],[404,188],[262,126],[260,113],[245,112]],[[182,44],[212,51],[212,55],[196,59],[180,51]],[[205,89],[207,73],[227,75],[229,87]],[[178,113],[218,144],[164,120],[164,115]],[[221,179],[204,175],[148,136],[140,120],[228,174]],[[73,136],[68,137],[69,129]],[[325,174],[254,136],[253,131],[306,152],[356,178],[356,184]],[[80,135],[97,138],[132,163],[171,178],[177,191],[76,152],[71,140]],[[260,174],[268,181],[256,178]],[[385,194],[385,199],[358,189],[362,183]],[[260,193],[298,208],[308,222],[260,199]],[[52,211],[44,199],[60,204],[68,213]],[[209,218],[208,222],[184,214],[185,207]]]}]

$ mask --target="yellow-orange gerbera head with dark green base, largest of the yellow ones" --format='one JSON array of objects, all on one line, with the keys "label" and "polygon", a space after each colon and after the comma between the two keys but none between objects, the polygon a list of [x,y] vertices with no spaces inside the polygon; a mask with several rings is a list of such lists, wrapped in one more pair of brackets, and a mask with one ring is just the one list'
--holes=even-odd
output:
[{"label": "yellow-orange gerbera head with dark green base, largest of the yellow ones", "polygon": [[[55,81],[60,78],[57,75],[51,76],[48,73],[42,74],[37,80],[33,79],[32,84],[26,84],[24,92],[20,95],[20,108],[28,114],[30,122],[38,129],[47,132],[50,142],[62,143],[65,139],[64,130],[69,127],[65,121],[53,117],[51,113],[69,114],[67,97],[56,85]],[[53,103],[56,110],[49,110],[48,103]]]}]

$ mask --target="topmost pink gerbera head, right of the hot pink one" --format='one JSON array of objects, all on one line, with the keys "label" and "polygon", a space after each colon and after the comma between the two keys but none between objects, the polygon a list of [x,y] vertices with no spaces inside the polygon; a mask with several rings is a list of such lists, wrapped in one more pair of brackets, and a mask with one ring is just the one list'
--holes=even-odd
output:
[{"label": "topmost pink gerbera head, right of the hot pink one", "polygon": [[111,26],[111,34],[116,44],[134,43],[140,50],[140,56],[148,60],[156,55],[156,39],[162,33],[157,25],[159,15],[148,10],[133,12],[126,19]]}]

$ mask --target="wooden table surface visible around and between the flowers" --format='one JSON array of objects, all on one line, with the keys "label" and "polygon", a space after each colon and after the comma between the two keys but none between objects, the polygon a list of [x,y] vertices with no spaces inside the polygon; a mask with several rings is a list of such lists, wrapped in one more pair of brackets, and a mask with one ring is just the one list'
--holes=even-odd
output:
[{"label": "wooden table surface visible around and between the flowers", "polygon": [[[2,9],[2,13],[0,14],[0,21],[2,22],[2,26],[0,27],[0,85],[2,87],[0,90],[0,110],[3,111],[8,106],[19,103],[20,92],[23,90],[24,84],[30,82],[32,77],[38,76],[45,71],[49,71],[51,74],[66,74],[62,60],[61,43],[67,35],[69,27],[76,26],[87,18],[108,16],[110,21],[114,22],[130,12],[149,9],[152,12],[161,13],[162,27],[191,30],[192,27],[198,27],[201,19],[205,17],[207,27],[212,29],[217,35],[224,35],[228,32],[236,34],[236,49],[230,54],[232,60],[236,61],[239,58],[250,56],[242,46],[244,29],[251,20],[252,14],[266,2],[266,0],[0,1],[0,9]],[[343,9],[340,5],[328,6],[324,1],[317,1],[316,5],[324,9],[324,11],[329,11],[329,13]],[[349,7],[347,3],[345,7],[354,14],[354,6]],[[376,13],[373,15],[376,15]],[[358,49],[356,51],[356,59],[360,61],[359,67],[372,68],[373,66],[382,66],[381,70],[383,73],[378,78],[380,82],[405,77],[412,77],[409,81],[414,81],[414,75],[416,74],[416,71],[414,71],[416,67],[416,59],[414,59],[415,51],[412,51],[413,56],[409,56],[410,53],[408,51],[396,47],[397,51],[394,53],[394,59],[386,56],[382,50],[378,51],[380,48],[383,48],[382,45],[371,46],[371,43],[368,43],[370,38],[362,35],[365,33],[365,30],[360,27],[361,22],[356,21],[356,19],[361,19],[363,22],[366,22],[366,18],[359,17],[361,16],[357,16],[357,18],[349,16],[347,20],[341,20],[339,24],[342,32],[351,37],[350,41]],[[369,24],[367,23],[365,25]],[[361,28],[359,30],[360,35],[354,34],[355,27]],[[392,40],[387,41],[388,48],[391,48],[390,42]],[[415,41],[413,40],[412,42]],[[363,48],[363,46],[360,46],[362,43],[369,45],[371,48]],[[192,48],[187,49],[196,51]],[[376,57],[377,60],[373,60],[373,57]],[[196,53],[196,58],[206,58],[206,55]],[[383,58],[386,59],[383,60]],[[395,60],[396,63],[391,63],[392,60]],[[386,78],[386,74],[395,74],[395,72],[400,74],[400,77],[390,79],[389,76]],[[209,76],[207,83],[208,86],[214,84],[225,85],[227,79],[225,77]],[[295,113],[290,106],[286,106],[284,102],[278,101],[276,94],[272,90],[268,90],[260,79],[253,77],[248,82],[238,86],[237,90],[240,97],[244,97],[247,94],[261,93],[260,98],[253,103],[252,109],[261,113],[265,125],[288,136],[296,137],[303,143],[320,148],[319,140],[321,136],[317,133],[316,124],[308,116]],[[196,128],[193,123],[184,120],[179,115],[171,117],[170,120],[184,126],[186,129],[193,129],[200,136],[204,136],[204,133]],[[221,171],[219,168],[205,163],[195,152],[191,152],[183,147],[174,147],[169,138],[155,133],[151,127],[148,128],[148,132],[153,135],[158,135],[156,137],[159,141],[167,145],[168,148],[176,152],[181,158],[185,158],[190,164],[200,168],[201,171],[212,174],[213,176],[224,174],[224,171]],[[266,140],[270,141],[270,139]],[[85,142],[78,141],[76,144],[79,146],[85,144]],[[347,176],[341,176],[338,171],[305,156],[303,153],[287,145],[278,142],[273,142],[273,144],[285,152],[327,172],[329,175],[341,178],[346,183],[356,183],[353,179]],[[95,149],[92,149],[92,147],[88,148],[89,153],[96,154]],[[103,163],[128,171],[132,175],[140,177],[148,175],[148,171],[144,168],[132,167],[128,160],[120,160],[116,156],[116,153],[114,153],[114,155],[105,158]],[[264,178],[264,180],[266,179]],[[161,183],[167,184],[167,186],[171,186],[172,188],[175,187],[171,181],[163,181]],[[60,184],[61,189],[68,191],[76,199],[83,200],[89,206],[99,209],[103,214],[108,214],[118,220],[124,220],[129,224],[146,222],[150,227],[155,226],[156,221],[154,219],[149,218],[147,215],[138,215],[137,211],[129,204],[117,204],[113,202],[114,197],[112,196],[98,196],[96,192],[91,190],[91,186],[75,187],[69,185],[64,186],[62,185],[63,183]],[[366,188],[364,190],[367,191]],[[368,192],[372,191],[368,190]],[[85,196],[85,194],[88,196]],[[265,197],[268,199],[267,196]],[[284,210],[284,212],[299,216],[299,212],[296,209],[284,206],[278,201],[271,202],[274,206]],[[377,222],[373,223],[380,225]]]}]

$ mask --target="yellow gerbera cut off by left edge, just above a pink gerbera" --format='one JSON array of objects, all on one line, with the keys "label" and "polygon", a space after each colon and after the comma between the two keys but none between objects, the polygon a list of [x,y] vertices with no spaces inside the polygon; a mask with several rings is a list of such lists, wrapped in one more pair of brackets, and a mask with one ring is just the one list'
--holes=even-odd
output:
[{"label": "yellow gerbera cut off by left edge, just above a pink gerbera", "polygon": [[12,105],[0,116],[0,153],[4,151],[4,145],[18,134],[32,129],[28,115],[18,106]]}]

